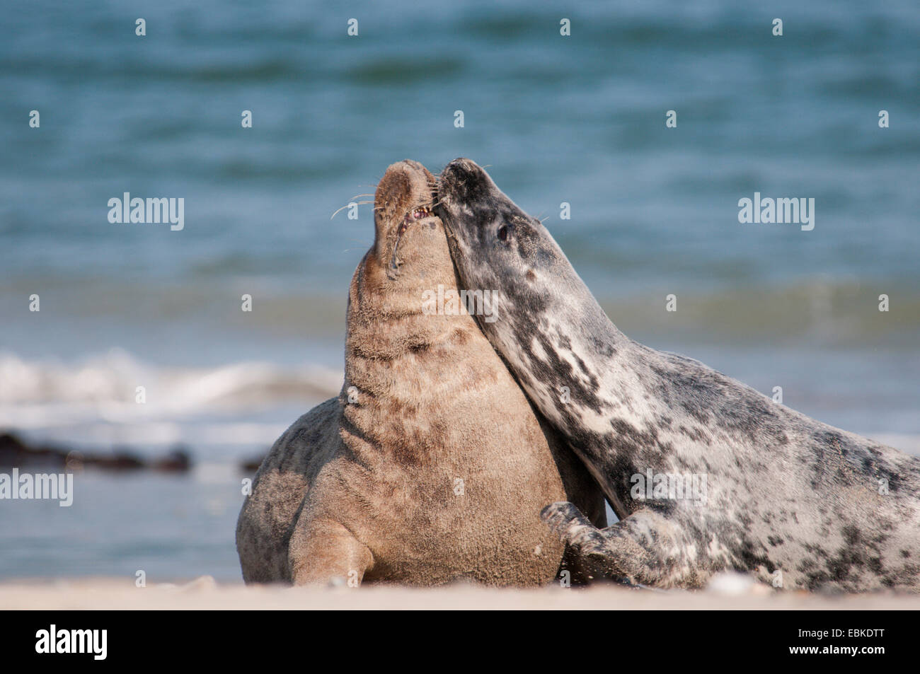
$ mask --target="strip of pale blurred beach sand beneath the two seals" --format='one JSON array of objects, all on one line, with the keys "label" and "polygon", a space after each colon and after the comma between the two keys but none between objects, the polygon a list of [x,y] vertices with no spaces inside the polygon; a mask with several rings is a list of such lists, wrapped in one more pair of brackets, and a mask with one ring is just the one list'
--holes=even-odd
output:
[{"label": "strip of pale blurred beach sand beneath the two seals", "polygon": [[281,588],[218,584],[200,577],[185,584],[80,578],[0,583],[0,610],[920,610],[920,596],[879,593],[822,596],[765,587],[740,593],[591,588]]}]

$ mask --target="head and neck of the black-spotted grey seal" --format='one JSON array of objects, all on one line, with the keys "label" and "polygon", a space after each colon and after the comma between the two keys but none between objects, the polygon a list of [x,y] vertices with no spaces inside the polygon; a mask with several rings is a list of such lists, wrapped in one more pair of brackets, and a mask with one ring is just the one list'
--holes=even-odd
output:
[{"label": "head and neck of the black-spotted grey seal", "polygon": [[[531,400],[562,428],[562,413],[553,417],[558,392],[568,388],[593,404],[597,378],[585,359],[597,336],[613,352],[615,327],[546,227],[474,162],[455,159],[444,168],[434,212],[462,286],[491,291],[496,320],[479,320],[479,327]],[[582,411],[565,407],[566,414]]]}]

